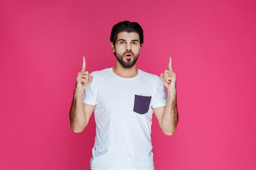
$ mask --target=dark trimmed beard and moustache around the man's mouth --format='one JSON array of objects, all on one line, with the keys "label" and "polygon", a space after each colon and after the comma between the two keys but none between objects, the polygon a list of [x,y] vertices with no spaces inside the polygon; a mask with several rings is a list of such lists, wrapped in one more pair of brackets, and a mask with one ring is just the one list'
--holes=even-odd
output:
[{"label": "dark trimmed beard and moustache around the man's mouth", "polygon": [[[131,58],[126,58],[125,55],[127,53],[131,53],[132,57]],[[139,53],[137,55],[134,55],[131,51],[125,52],[123,55],[115,52],[114,55],[116,56],[118,62],[124,67],[124,68],[131,68],[134,66],[134,64],[137,62],[139,58]],[[133,58],[133,59],[132,59]]]}]

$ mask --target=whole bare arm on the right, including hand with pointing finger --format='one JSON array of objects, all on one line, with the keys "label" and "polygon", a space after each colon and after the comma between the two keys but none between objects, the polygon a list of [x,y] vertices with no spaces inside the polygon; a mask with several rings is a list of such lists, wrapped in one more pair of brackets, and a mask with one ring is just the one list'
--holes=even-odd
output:
[{"label": "whole bare arm on the right, including hand with pointing finger", "polygon": [[176,73],[173,72],[171,57],[169,60],[169,70],[161,73],[160,78],[168,89],[166,106],[153,108],[162,132],[165,135],[173,135],[176,131],[179,115],[177,110],[177,93],[176,93]]}]

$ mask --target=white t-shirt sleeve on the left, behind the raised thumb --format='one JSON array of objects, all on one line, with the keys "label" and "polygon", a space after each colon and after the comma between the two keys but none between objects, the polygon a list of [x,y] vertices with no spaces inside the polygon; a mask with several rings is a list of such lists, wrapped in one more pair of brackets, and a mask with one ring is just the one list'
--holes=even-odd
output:
[{"label": "white t-shirt sleeve on the left, behind the raised thumb", "polygon": [[90,73],[89,75],[93,76],[92,83],[85,88],[83,91],[83,103],[96,105],[96,84],[95,84],[95,74],[94,72]]}]

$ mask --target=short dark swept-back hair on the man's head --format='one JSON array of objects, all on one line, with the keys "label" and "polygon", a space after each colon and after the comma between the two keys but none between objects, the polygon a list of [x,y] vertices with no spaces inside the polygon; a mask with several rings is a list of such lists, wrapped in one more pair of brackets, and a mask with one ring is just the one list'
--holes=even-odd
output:
[{"label": "short dark swept-back hair on the man's head", "polygon": [[143,44],[143,29],[137,22],[130,22],[130,21],[122,21],[115,24],[112,27],[111,35],[110,35],[110,42],[114,43],[114,46],[117,42],[117,35],[120,32],[135,32],[139,34],[139,43],[140,45]]}]

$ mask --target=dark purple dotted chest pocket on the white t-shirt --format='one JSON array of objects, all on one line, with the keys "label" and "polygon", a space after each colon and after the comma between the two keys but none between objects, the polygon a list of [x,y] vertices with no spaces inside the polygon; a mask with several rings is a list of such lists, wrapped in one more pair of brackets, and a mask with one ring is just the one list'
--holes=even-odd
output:
[{"label": "dark purple dotted chest pocket on the white t-shirt", "polygon": [[139,114],[145,114],[148,112],[151,96],[135,95],[133,111]]}]

